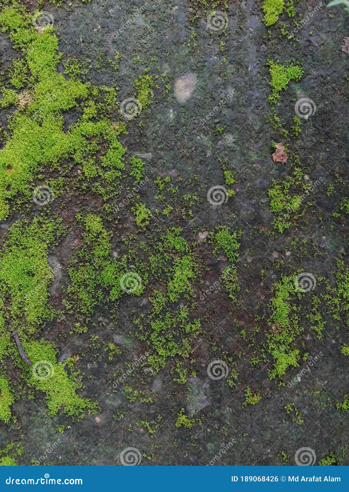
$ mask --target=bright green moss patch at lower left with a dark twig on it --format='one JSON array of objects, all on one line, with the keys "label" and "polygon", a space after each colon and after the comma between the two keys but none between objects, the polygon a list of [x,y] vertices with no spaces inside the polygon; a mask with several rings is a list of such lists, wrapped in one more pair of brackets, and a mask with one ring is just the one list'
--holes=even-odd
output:
[{"label": "bright green moss patch at lower left with a dark twig on it", "polygon": [[[9,229],[0,258],[0,419],[11,417],[14,392],[5,377],[6,359],[11,357],[20,368],[20,378],[29,386],[46,393],[47,405],[54,415],[62,407],[69,415],[81,416],[84,410],[94,411],[96,405],[81,399],[76,391],[81,387],[68,377],[64,364],[58,364],[56,350],[50,342],[35,340],[38,326],[59,315],[50,307],[49,286],[54,278],[47,262],[48,248],[62,234],[60,222],[40,221],[31,224],[15,222]],[[16,330],[31,366],[20,358],[10,334]],[[43,367],[44,375],[38,368]]]}]

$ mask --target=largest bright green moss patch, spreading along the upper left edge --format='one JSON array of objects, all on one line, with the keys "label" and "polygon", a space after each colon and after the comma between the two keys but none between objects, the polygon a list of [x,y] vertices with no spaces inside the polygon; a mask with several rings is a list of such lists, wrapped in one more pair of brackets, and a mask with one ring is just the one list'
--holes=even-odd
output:
[{"label": "largest bright green moss patch, spreading along the upper left edge", "polygon": [[[0,219],[9,214],[9,199],[17,194],[29,199],[40,173],[45,168],[50,171],[59,169],[64,159],[73,159],[76,164],[81,164],[89,179],[100,176],[103,180],[103,168],[111,168],[114,181],[109,180],[107,191],[101,192],[104,198],[116,194],[116,178],[124,169],[125,152],[117,137],[120,132],[126,132],[125,125],[111,124],[107,118],[101,118],[97,123],[90,121],[97,113],[116,109],[115,89],[92,88],[75,76],[66,80],[58,71],[61,55],[56,35],[51,27],[43,32],[36,31],[30,15],[5,9],[0,16],[0,26],[11,30],[15,48],[20,48],[23,53],[14,62],[11,76],[14,87],[22,87],[25,73],[29,73],[25,99],[10,88],[3,90],[0,99],[2,107],[19,104],[8,124],[8,138],[0,150]],[[96,99],[97,104],[89,100],[81,119],[65,132],[62,113],[74,107],[78,100],[86,100],[87,96]],[[100,167],[95,154],[101,148],[102,136],[107,149],[100,159]]]}]

